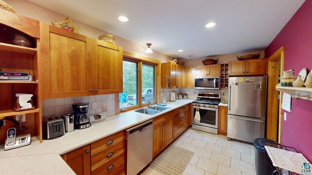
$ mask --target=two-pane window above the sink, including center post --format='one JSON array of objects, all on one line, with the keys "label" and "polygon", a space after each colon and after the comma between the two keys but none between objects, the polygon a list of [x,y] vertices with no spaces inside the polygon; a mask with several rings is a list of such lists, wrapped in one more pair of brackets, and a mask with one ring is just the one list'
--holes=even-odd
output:
[{"label": "two-pane window above the sink, including center post", "polygon": [[119,109],[139,108],[155,99],[155,66],[142,60],[124,58]]}]

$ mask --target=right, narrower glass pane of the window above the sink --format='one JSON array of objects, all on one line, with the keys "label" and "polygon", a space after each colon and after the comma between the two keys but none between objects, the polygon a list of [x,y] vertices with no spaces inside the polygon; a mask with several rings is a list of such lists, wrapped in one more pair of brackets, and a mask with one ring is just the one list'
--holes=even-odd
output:
[{"label": "right, narrower glass pane of the window above the sink", "polygon": [[142,104],[155,100],[155,67],[142,64]]}]

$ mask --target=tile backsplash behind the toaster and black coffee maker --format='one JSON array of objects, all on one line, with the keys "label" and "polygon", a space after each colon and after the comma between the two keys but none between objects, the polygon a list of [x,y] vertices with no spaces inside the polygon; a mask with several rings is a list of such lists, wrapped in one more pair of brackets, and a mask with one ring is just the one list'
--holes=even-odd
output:
[{"label": "tile backsplash behind the toaster and black coffee maker", "polygon": [[[42,116],[44,118],[73,113],[72,104],[88,102],[89,115],[102,114],[106,117],[115,115],[115,94],[93,95],[83,97],[67,97],[43,100]],[[97,102],[97,109],[92,109],[92,103]]]}]

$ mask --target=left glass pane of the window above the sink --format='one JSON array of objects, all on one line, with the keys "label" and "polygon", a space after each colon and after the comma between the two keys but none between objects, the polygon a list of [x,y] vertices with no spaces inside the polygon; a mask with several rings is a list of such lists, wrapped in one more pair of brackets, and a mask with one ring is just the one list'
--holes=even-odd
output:
[{"label": "left glass pane of the window above the sink", "polygon": [[119,108],[137,105],[137,62],[123,60],[123,93],[119,94]]}]

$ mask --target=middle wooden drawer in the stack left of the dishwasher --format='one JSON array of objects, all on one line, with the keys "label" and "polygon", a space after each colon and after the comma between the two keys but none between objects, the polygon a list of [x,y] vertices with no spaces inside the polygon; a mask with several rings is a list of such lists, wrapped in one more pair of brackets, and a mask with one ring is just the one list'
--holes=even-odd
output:
[{"label": "middle wooden drawer in the stack left of the dishwasher", "polygon": [[121,155],[125,152],[125,142],[122,141],[116,146],[113,146],[93,157],[91,157],[91,170],[95,170],[106,162],[112,160],[113,158]]}]

